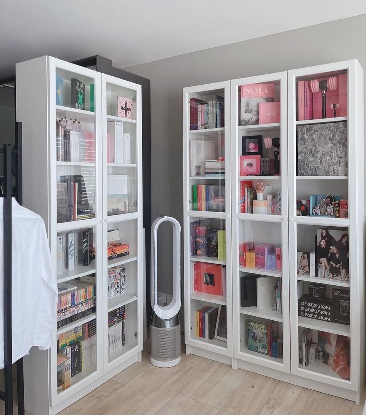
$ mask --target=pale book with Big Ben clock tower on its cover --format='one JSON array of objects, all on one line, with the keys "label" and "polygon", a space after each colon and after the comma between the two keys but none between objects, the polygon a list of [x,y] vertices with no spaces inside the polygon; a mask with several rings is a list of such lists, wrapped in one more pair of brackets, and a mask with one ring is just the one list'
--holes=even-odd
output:
[{"label": "pale book with Big Ben clock tower on its cover", "polygon": [[127,175],[108,175],[108,216],[128,213]]}]

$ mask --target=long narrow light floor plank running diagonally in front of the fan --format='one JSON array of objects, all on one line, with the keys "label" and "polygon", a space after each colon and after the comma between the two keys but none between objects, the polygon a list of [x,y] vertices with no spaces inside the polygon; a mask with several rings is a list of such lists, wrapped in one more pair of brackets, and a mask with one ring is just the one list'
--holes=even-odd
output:
[{"label": "long narrow light floor plank running diagonally in front of the fan", "polygon": [[[161,369],[165,370],[165,369]],[[164,383],[156,383],[156,389],[132,407],[125,415],[154,415],[171,399],[176,399],[179,392],[189,382],[193,381],[200,371],[187,365],[180,365],[179,369]]]}]

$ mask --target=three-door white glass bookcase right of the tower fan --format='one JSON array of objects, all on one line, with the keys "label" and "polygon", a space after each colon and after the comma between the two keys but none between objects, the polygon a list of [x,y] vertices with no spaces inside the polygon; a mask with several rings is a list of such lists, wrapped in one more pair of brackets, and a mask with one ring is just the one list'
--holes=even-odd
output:
[{"label": "three-door white glass bookcase right of the tower fan", "polygon": [[[325,83],[321,83],[324,80]],[[225,138],[225,150],[230,147],[230,158],[225,158],[225,207],[228,209],[230,205],[231,214],[229,218],[227,216],[229,212],[226,211],[225,225],[228,229],[230,226],[228,222],[231,222],[231,239],[227,234],[228,255],[225,266],[226,283],[232,286],[232,296],[229,298],[230,291],[227,290],[225,301],[228,315],[227,339],[228,344],[229,340],[232,344],[231,353],[229,348],[224,349],[225,353],[217,349],[217,339],[201,338],[203,332],[196,331],[196,318],[199,323],[200,318],[202,319],[207,312],[207,309],[202,310],[202,307],[215,306],[215,302],[212,301],[212,296],[205,293],[204,286],[202,288],[197,284],[194,285],[195,274],[192,265],[198,261],[218,261],[192,255],[194,248],[192,241],[197,235],[194,234],[192,238],[194,226],[191,226],[191,223],[201,217],[207,218],[209,215],[217,214],[202,212],[202,205],[198,206],[199,203],[195,205],[196,195],[192,187],[195,184],[214,185],[217,182],[213,180],[219,178],[213,179],[212,176],[207,177],[207,175],[192,177],[190,142],[197,137],[200,140],[211,140],[214,131],[204,124],[196,130],[194,126],[196,120],[191,112],[190,100],[199,98],[201,106],[205,105],[205,102],[209,103],[209,100],[216,98],[217,92],[205,95],[204,91],[214,90],[218,84],[213,84],[212,87],[203,85],[183,89],[187,352],[231,364],[234,368],[250,370],[360,403],[365,392],[363,70],[357,60],[350,60],[235,79],[229,83],[231,98],[228,99],[228,95],[225,95],[225,134],[228,133],[228,123],[231,133],[230,138],[227,136]],[[226,85],[226,83],[222,84]],[[302,102],[306,102],[301,95],[301,88],[304,85],[306,85],[304,88],[310,88],[311,93],[311,88],[316,91],[313,94],[313,112],[310,107],[308,113],[301,108]],[[324,85],[327,85],[327,88]],[[246,93],[242,94],[242,90],[247,88],[249,91],[251,87],[254,89],[268,87],[272,91],[268,97],[272,99],[267,101],[277,103],[276,106],[267,107],[267,117],[262,118],[259,123],[253,122],[259,115],[258,107],[256,110],[256,107],[251,106],[250,100],[242,98],[248,97]],[[324,89],[325,118],[322,114]],[[241,108],[243,104],[246,104],[246,107]],[[206,110],[206,107],[204,108]],[[202,107],[200,109],[202,111]],[[279,110],[280,116],[271,120],[274,112]],[[250,118],[252,121],[248,121]],[[226,121],[227,119],[230,121]],[[308,151],[310,147],[312,151]],[[258,170],[255,169],[255,173],[251,171],[258,162],[258,157],[256,158],[258,154],[265,159],[274,159],[277,150],[279,156],[277,172],[272,171],[271,175],[262,172],[264,175],[258,175]],[[311,154],[314,153],[316,156],[312,157]],[[216,153],[216,156],[220,155]],[[204,159],[204,156],[202,157]],[[205,162],[202,162],[201,171],[206,172],[202,170],[203,166]],[[265,166],[266,164],[264,168]],[[267,211],[267,214],[266,212],[252,213],[250,208],[248,212],[245,202],[243,205],[243,200],[245,201],[243,196],[250,198],[251,194],[246,193],[243,183],[253,182],[247,186],[254,187],[258,180],[265,182],[259,183],[262,188],[266,186],[265,195],[271,194],[272,199],[276,198],[274,210]],[[230,195],[227,186],[230,186]],[[310,215],[309,206],[306,205],[309,204],[308,200],[312,195],[317,195],[318,200],[314,202],[314,206],[311,206]],[[319,213],[315,205],[319,203],[324,205],[326,201],[321,202],[320,196],[326,199],[324,197],[326,195],[332,195],[334,200],[338,198],[347,200],[348,214],[339,212],[341,217],[338,217],[338,205],[334,204],[334,212],[337,209],[334,215],[337,217],[329,215],[331,212],[328,209],[326,209],[328,215],[325,211],[324,215],[315,215]],[[269,199],[267,201],[273,203]],[[339,206],[344,207],[345,204],[340,203]],[[320,207],[324,209],[324,206]],[[319,258],[321,252],[318,251],[318,245],[321,239],[324,239],[320,236],[322,232],[326,233],[322,231],[324,229],[330,236],[327,243],[323,241],[324,244],[329,244],[326,245],[329,251],[326,255],[328,265],[324,265],[326,271],[323,273],[323,260]],[[276,248],[280,246],[281,267],[275,269],[271,266],[271,258],[270,262],[265,263],[261,268],[253,264],[248,266],[247,263],[243,266],[243,252],[247,250],[248,245],[244,245],[243,248],[242,243],[248,241],[253,242],[254,248],[262,243],[270,244],[274,252],[277,252]],[[301,262],[299,268],[302,257],[308,261],[308,264]],[[249,261],[248,253],[245,258]],[[337,261],[340,264],[338,267]],[[311,265],[312,263],[314,264]],[[315,269],[316,276],[310,275],[314,274]],[[248,295],[252,296],[249,297],[250,301],[245,297],[247,294],[244,295],[244,292],[250,286],[248,283],[253,283],[252,278],[258,277],[262,280],[266,280],[266,277],[272,278],[267,280],[270,289],[273,286],[281,291],[280,312],[278,312],[278,304],[273,302],[272,289],[271,295],[267,297],[267,305],[263,301],[261,306],[256,304],[258,298],[255,298],[256,294],[250,290],[248,291]],[[245,289],[242,281],[247,284]],[[320,294],[320,291],[323,294]],[[325,297],[323,301],[327,307],[329,305],[333,307],[331,317],[327,315],[327,318],[319,318],[320,313],[314,312],[316,307],[314,303],[318,301],[317,295]],[[343,296],[342,301],[339,301],[340,295]],[[201,299],[198,303],[197,298]],[[303,308],[300,308],[301,298],[303,300],[301,307],[304,301],[312,303],[310,311],[305,311],[307,316]],[[197,310],[201,311],[201,314],[197,314]],[[350,319],[349,324],[347,318]],[[257,323],[262,325],[259,330],[258,326],[253,327],[253,324]],[[269,340],[271,346],[267,342],[270,349],[260,350],[257,344],[255,345],[257,349],[253,350],[253,344],[256,342],[266,342],[261,338],[262,329],[267,330],[268,336],[269,330],[274,328],[275,331],[271,333],[275,333],[275,337]],[[277,338],[281,343],[279,353]],[[273,339],[277,344],[273,345]],[[315,353],[318,353],[318,358],[314,362],[310,359],[307,361],[309,352],[302,344],[305,341],[309,346],[313,344]],[[303,353],[306,353],[304,359]]]}]

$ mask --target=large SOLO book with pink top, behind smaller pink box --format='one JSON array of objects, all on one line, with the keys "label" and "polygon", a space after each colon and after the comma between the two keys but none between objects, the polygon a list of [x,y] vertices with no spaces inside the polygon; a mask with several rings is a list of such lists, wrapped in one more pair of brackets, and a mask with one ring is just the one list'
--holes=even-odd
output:
[{"label": "large SOLO book with pink top, behind smaller pink box", "polygon": [[259,103],[275,101],[275,84],[247,84],[241,86],[240,124],[259,124]]}]

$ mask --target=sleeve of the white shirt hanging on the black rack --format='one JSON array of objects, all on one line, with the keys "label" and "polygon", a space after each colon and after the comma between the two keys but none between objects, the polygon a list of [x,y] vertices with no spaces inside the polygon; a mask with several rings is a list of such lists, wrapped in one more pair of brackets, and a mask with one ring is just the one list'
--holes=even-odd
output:
[{"label": "sleeve of the white shirt hanging on the black rack", "polygon": [[52,346],[52,331],[56,320],[58,294],[56,274],[52,265],[50,248],[43,221],[41,223],[39,238],[42,257],[41,283],[33,345],[38,346],[41,350],[45,350]]}]

